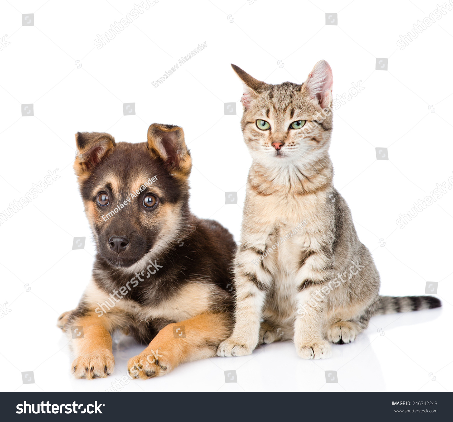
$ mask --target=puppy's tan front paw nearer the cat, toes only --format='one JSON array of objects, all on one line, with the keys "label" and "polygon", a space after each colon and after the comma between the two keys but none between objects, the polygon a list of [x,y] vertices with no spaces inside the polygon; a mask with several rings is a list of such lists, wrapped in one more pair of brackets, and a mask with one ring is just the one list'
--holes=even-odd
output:
[{"label": "puppy's tan front paw nearer the cat, toes only", "polygon": [[144,350],[140,355],[134,356],[127,362],[127,371],[134,378],[148,379],[167,374],[172,370],[172,365],[165,359],[159,350]]}]

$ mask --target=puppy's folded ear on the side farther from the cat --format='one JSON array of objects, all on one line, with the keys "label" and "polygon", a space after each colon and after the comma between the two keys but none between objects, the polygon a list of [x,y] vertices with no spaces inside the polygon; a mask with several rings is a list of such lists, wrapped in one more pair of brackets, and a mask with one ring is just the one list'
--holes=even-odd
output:
[{"label": "puppy's folded ear on the side farther from the cat", "polygon": [[115,146],[115,138],[108,133],[77,132],[77,155],[74,170],[77,176],[91,173],[107,152]]}]

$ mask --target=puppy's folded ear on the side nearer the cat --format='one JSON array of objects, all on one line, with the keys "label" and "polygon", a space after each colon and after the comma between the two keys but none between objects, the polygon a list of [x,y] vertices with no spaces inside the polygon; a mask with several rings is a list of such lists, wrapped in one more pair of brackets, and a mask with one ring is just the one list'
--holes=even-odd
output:
[{"label": "puppy's folded ear on the side nearer the cat", "polygon": [[170,172],[188,177],[192,158],[184,142],[183,128],[153,123],[148,128],[148,148],[151,156],[164,161]]}]

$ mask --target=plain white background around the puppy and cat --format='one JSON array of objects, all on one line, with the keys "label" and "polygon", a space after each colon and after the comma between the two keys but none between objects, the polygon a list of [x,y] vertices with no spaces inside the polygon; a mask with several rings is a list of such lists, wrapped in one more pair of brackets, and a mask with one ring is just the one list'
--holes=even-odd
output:
[{"label": "plain white background around the puppy and cat", "polygon": [[[60,178],[0,225],[0,304],[10,309],[0,318],[0,388],[104,391],[144,347],[118,338],[107,379],[70,374],[67,339],[55,324],[77,305],[95,253],[72,170],[74,133],[144,142],[151,123],[182,126],[193,156],[192,210],[220,221],[238,241],[251,158],[230,63],[268,83],[302,83],[326,59],[334,97],[360,80],[365,86],[334,115],[331,157],[335,186],[381,273],[381,293],[422,295],[426,282],[439,282],[443,308],[372,318],[356,342],[333,346],[328,360],[300,360],[293,344],[274,343],[251,356],[184,364],[123,391],[452,391],[453,191],[405,228],[395,223],[453,171],[453,10],[403,50],[396,45],[436,4],[160,0],[97,49],[97,34],[133,1],[2,0],[0,38],[8,34],[10,44],[0,51],[0,211],[49,170],[58,168]],[[330,12],[338,25],[326,26]],[[21,26],[30,13],[34,26]],[[206,49],[153,87],[204,42]],[[388,58],[387,71],[375,70],[376,57]],[[136,114],[123,116],[129,102]],[[224,115],[225,102],[236,102],[236,115]],[[21,104],[34,104],[34,116],[21,117]],[[376,147],[388,147],[390,159],[376,160]],[[225,204],[226,191],[238,192],[237,205]],[[79,236],[87,237],[85,248],[72,250]],[[21,372],[32,370],[35,383],[22,384]],[[224,370],[236,370],[238,382],[226,384]],[[338,383],[326,384],[325,370],[336,370]]]}]

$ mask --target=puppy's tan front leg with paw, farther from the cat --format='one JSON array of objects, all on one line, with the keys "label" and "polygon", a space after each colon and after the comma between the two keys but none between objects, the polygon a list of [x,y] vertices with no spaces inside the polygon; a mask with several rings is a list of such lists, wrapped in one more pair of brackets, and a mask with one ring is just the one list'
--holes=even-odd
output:
[{"label": "puppy's tan front leg with paw, farther from the cat", "polygon": [[[109,319],[87,315],[75,318],[72,326],[83,327],[83,338],[72,339],[76,358],[72,372],[76,378],[105,378],[113,372],[115,358],[112,353],[112,338],[108,332]],[[107,325],[107,327],[105,325]]]}]

